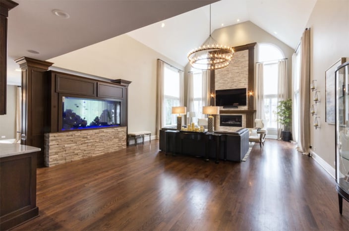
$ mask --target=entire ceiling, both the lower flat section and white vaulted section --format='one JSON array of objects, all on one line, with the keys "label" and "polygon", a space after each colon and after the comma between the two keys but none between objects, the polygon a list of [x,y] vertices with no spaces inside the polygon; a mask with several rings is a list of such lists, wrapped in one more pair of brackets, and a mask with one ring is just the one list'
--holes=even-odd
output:
[{"label": "entire ceiling, both the lower flat section and white vaulted section", "polygon": [[[14,71],[18,68],[13,61],[16,58],[46,60],[127,32],[184,66],[187,52],[208,37],[207,4],[217,0],[15,1],[19,5],[11,9],[8,16],[9,84],[20,83],[20,72]],[[238,23],[237,19],[249,20],[294,48],[315,3],[316,0],[217,1],[212,4],[211,31],[222,27],[222,23],[228,26]],[[70,18],[55,16],[53,9],[66,11]],[[137,28],[141,29],[135,30]]]}]

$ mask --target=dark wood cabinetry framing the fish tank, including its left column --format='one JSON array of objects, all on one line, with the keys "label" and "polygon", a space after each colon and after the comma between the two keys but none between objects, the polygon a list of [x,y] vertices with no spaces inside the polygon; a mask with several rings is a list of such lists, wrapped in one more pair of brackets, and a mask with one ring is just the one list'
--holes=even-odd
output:
[{"label": "dark wood cabinetry framing the fish tank, including its left column", "polygon": [[48,71],[52,62],[34,58],[22,57],[15,61],[22,69],[21,144],[41,148],[37,155],[38,167],[44,166],[44,134],[61,131],[63,97],[118,101],[120,125],[127,126],[130,81]]}]

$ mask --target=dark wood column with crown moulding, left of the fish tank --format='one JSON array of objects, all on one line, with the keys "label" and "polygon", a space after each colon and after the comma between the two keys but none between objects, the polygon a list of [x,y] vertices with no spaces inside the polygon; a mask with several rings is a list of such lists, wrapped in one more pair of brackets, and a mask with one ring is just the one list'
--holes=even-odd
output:
[{"label": "dark wood column with crown moulding, left of the fish tank", "polygon": [[22,69],[21,144],[41,148],[37,166],[44,166],[44,133],[49,127],[49,78],[52,62],[22,57],[15,60]]}]

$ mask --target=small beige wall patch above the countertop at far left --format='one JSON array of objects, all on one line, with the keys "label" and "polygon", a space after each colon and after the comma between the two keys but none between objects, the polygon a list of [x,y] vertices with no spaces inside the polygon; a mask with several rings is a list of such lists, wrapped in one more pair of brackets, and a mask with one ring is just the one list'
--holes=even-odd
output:
[{"label": "small beige wall patch above the countertop at far left", "polygon": [[[6,115],[0,116],[0,139],[16,138],[16,98],[17,86],[7,85]],[[5,136],[1,138],[2,136]]]}]

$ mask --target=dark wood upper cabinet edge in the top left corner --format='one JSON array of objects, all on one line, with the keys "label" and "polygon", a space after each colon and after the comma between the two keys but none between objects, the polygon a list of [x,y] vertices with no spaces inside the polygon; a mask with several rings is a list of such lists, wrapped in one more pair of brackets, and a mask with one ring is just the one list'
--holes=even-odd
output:
[{"label": "dark wood upper cabinet edge in the top left corner", "polygon": [[7,92],[7,17],[8,11],[18,3],[0,0],[0,115],[6,114]]}]

